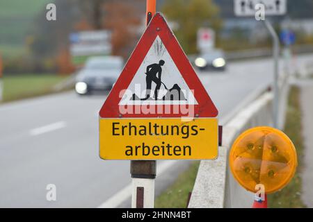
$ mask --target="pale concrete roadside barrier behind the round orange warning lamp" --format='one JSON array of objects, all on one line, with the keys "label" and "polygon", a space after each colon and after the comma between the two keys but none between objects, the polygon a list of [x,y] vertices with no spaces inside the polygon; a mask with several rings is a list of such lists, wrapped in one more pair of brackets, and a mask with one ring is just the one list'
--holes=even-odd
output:
[{"label": "pale concrete roadside barrier behind the round orange warning lamp", "polygon": [[[280,119],[284,126],[284,112],[289,92],[289,75],[280,74]],[[268,86],[269,88],[270,86]],[[265,88],[264,88],[265,89]],[[233,178],[228,166],[228,155],[234,139],[243,131],[255,126],[273,125],[273,92],[259,89],[241,104],[230,118],[224,121],[223,142],[216,160],[202,160],[189,200],[189,208],[251,207],[253,195]]]}]

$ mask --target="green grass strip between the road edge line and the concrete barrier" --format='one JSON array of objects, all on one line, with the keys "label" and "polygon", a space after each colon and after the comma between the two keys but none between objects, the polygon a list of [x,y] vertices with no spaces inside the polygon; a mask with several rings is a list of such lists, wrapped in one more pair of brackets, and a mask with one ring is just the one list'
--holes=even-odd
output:
[{"label": "green grass strip between the road edge line and the concrete barrier", "polygon": [[186,208],[188,194],[192,191],[200,161],[195,161],[181,173],[177,180],[155,200],[157,208]]}]

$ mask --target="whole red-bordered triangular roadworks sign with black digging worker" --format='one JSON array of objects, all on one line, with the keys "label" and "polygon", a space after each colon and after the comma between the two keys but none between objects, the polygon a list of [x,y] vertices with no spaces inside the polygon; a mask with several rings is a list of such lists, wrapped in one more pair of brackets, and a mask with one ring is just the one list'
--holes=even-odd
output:
[{"label": "whole red-bordered triangular roadworks sign with black digging worker", "polygon": [[[190,112],[192,110],[192,112]],[[152,18],[102,109],[101,118],[217,117],[176,37],[160,13]]]}]

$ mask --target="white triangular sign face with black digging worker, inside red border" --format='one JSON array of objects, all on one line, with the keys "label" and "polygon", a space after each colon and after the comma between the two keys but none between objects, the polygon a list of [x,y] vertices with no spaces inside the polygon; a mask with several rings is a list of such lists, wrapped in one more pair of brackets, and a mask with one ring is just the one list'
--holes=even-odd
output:
[{"label": "white triangular sign face with black digging worker, inside red border", "polygon": [[157,35],[119,105],[198,105],[193,91]]}]

